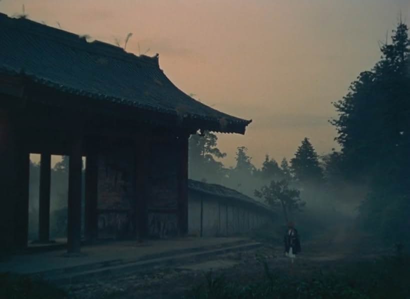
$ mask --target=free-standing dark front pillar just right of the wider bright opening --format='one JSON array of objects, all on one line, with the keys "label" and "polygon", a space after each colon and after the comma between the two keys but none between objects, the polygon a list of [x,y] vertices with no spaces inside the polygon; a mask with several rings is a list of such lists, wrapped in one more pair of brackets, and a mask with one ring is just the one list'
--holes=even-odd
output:
[{"label": "free-standing dark front pillar just right of the wider bright opening", "polygon": [[81,242],[81,138],[71,141],[68,168],[67,251],[79,253]]}]

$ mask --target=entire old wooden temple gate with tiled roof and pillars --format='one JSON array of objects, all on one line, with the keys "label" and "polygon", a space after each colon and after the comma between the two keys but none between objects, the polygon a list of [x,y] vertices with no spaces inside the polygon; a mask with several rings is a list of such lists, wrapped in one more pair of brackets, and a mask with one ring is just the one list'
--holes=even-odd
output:
[{"label": "entire old wooden temple gate with tiled roof and pillars", "polygon": [[50,157],[69,156],[67,251],[77,253],[82,223],[93,240],[98,221],[114,214],[131,238],[155,237],[152,226],[186,235],[190,134],[244,134],[250,122],[183,93],[159,68],[158,55],[135,56],[0,13],[0,251],[27,247],[30,153],[40,154],[44,243]]}]

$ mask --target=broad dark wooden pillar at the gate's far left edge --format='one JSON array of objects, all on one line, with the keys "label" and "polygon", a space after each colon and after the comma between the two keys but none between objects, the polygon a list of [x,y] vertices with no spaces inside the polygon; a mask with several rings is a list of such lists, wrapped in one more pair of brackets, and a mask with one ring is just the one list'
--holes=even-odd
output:
[{"label": "broad dark wooden pillar at the gate's far left edge", "polygon": [[29,153],[16,122],[0,109],[0,252],[27,246]]}]

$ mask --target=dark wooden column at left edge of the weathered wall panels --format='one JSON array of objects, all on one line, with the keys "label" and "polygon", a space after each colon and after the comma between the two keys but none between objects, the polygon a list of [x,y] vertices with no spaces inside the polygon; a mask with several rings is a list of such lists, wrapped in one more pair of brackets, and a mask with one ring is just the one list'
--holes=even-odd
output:
[{"label": "dark wooden column at left edge of the weathered wall panels", "polygon": [[93,148],[85,161],[85,238],[93,241],[98,234],[98,154]]}]

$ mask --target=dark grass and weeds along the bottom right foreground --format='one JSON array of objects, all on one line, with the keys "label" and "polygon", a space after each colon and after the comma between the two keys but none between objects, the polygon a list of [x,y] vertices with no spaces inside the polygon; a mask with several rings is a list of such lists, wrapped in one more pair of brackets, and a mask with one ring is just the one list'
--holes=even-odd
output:
[{"label": "dark grass and weeds along the bottom right foreground", "polygon": [[372,261],[341,265],[332,271],[318,270],[313,275],[297,276],[270,270],[252,283],[230,281],[207,273],[205,282],[194,287],[186,298],[410,298],[410,256],[397,255]]}]

